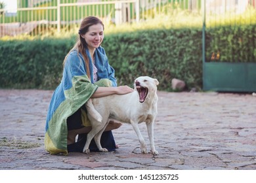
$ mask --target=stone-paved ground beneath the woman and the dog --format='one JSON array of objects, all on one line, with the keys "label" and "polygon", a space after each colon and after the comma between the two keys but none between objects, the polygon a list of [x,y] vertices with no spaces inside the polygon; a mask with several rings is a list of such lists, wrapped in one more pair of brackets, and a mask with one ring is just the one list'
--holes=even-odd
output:
[{"label": "stone-paved ground beneath the woman and the dog", "polygon": [[[50,155],[45,116],[53,91],[0,90],[0,169],[256,169],[256,97],[158,92],[155,144],[140,154],[131,125],[114,130],[116,152]],[[146,125],[140,124],[148,144]]]}]

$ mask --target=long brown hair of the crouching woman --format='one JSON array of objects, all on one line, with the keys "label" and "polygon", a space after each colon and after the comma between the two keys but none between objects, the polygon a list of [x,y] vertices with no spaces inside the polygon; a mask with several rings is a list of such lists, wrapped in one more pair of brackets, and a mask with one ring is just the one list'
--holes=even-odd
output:
[{"label": "long brown hair of the crouching woman", "polygon": [[[99,18],[96,18],[95,16],[87,16],[86,18],[84,18],[81,22],[81,25],[80,25],[80,28],[78,31],[79,37],[77,38],[77,42],[75,42],[75,45],[70,50],[70,52],[77,50],[77,56],[79,55],[79,53],[82,54],[83,59],[85,60],[87,76],[89,77],[90,80],[91,80],[91,75],[90,75],[90,67],[89,67],[89,58],[85,51],[85,48],[87,48],[87,43],[85,42],[85,39],[83,39],[83,37],[81,37],[81,35],[84,35],[85,33],[87,33],[87,31],[89,30],[89,27],[91,27],[91,25],[96,25],[96,24],[101,24],[103,26],[103,30],[104,30],[104,24],[102,23],[102,21]],[[68,52],[68,54],[66,55],[66,57],[64,59],[63,67],[65,65],[66,59],[68,58],[68,55],[70,54],[70,52]]]}]

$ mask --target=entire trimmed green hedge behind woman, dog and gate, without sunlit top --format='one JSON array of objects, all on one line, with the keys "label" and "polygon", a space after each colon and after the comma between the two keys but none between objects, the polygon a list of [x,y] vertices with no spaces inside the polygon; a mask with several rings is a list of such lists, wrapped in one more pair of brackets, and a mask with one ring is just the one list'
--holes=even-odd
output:
[{"label": "entire trimmed green hedge behind woman, dog and gate, without sunlit top", "polygon": [[[233,61],[239,52],[236,61],[256,62],[255,32],[255,26],[238,32],[236,27],[207,30],[207,58],[220,51],[217,61]],[[63,59],[75,40],[0,41],[0,88],[54,89],[62,76]],[[159,90],[171,91],[172,78],[184,80],[188,89],[202,88],[201,29],[117,33],[106,35],[102,46],[116,69],[118,84],[132,86],[137,76],[148,75],[158,78]]]}]

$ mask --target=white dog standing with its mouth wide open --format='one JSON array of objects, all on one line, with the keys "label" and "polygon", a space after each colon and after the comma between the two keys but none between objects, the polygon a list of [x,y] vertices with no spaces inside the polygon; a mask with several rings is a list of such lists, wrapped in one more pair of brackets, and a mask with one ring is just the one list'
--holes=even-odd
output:
[{"label": "white dog standing with its mouth wide open", "polygon": [[85,103],[87,116],[91,122],[92,129],[87,134],[87,141],[83,148],[83,153],[89,153],[89,144],[94,138],[96,146],[100,152],[108,152],[102,148],[100,137],[108,125],[109,120],[117,120],[122,123],[131,124],[140,142],[140,150],[143,154],[148,154],[139,124],[146,122],[148,137],[150,140],[151,154],[158,155],[154,146],[154,121],[158,114],[157,86],[159,82],[156,78],[140,76],[135,79],[134,92],[125,95],[108,95],[89,99]]}]

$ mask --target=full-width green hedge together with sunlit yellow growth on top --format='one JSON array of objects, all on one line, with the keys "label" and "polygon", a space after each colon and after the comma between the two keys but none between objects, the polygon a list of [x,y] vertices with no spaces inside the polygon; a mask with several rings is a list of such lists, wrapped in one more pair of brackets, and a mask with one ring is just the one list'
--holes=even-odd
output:
[{"label": "full-width green hedge together with sunlit yellow growth on top", "polygon": [[[132,86],[137,76],[148,75],[158,78],[159,90],[172,91],[172,78],[184,80],[188,90],[202,89],[202,14],[173,6],[139,24],[105,24],[102,46],[118,84]],[[255,8],[236,16],[209,14],[205,23],[206,61],[256,62]],[[56,88],[77,29],[1,37],[0,88]]]}]

